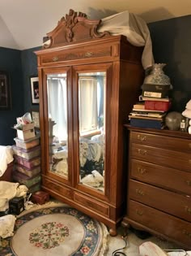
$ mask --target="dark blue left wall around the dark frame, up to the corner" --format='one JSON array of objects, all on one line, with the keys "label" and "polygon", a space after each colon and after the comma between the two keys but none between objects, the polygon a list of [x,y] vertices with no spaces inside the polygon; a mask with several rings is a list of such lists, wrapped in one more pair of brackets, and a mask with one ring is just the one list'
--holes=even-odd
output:
[{"label": "dark blue left wall around the dark frame, up to the corner", "polygon": [[21,68],[21,55],[19,50],[0,47],[0,70],[9,73],[11,85],[11,110],[0,111],[0,145],[15,143],[16,117],[23,114],[23,80]]}]

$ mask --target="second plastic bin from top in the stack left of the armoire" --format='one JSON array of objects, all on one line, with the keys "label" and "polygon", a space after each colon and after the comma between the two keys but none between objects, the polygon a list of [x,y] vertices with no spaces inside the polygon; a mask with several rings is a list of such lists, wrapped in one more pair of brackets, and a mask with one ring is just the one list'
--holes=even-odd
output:
[{"label": "second plastic bin from top in the stack left of the armoire", "polygon": [[12,145],[13,154],[19,155],[22,158],[31,159],[37,156],[40,156],[40,145],[36,145],[35,147],[25,150],[20,148],[19,146]]}]

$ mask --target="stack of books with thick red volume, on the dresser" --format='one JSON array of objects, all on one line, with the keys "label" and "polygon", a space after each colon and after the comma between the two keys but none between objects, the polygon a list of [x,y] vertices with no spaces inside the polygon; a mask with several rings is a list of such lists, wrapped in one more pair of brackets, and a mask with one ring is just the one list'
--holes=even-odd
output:
[{"label": "stack of books with thick red volume, on the dresser", "polygon": [[165,115],[171,107],[171,99],[155,97],[139,97],[129,113],[130,125],[140,128],[163,129]]}]

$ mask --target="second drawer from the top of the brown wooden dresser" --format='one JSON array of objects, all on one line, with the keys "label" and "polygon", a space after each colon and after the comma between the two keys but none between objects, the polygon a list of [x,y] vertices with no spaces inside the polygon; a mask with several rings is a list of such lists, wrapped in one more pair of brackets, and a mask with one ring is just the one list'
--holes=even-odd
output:
[{"label": "second drawer from the top of the brown wooden dresser", "polygon": [[191,154],[175,150],[164,150],[146,145],[131,144],[131,157],[166,167],[176,167],[191,172]]}]

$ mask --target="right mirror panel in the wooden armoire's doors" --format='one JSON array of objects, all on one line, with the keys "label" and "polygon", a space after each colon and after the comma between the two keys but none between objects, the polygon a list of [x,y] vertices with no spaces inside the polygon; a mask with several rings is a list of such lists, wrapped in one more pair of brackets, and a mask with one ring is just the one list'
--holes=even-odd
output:
[{"label": "right mirror panel in the wooden armoire's doors", "polygon": [[106,72],[79,73],[79,182],[104,192]]}]

